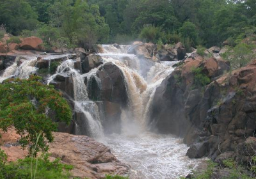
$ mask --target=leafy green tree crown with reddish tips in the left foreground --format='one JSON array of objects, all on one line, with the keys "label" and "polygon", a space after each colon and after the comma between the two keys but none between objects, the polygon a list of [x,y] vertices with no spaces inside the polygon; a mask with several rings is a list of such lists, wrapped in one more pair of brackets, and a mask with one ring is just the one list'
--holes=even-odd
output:
[{"label": "leafy green tree crown with reddish tips in the left foreground", "polygon": [[[7,131],[14,127],[21,138],[23,148],[28,146],[29,154],[36,155],[38,150],[47,151],[45,138],[52,142],[52,131],[57,129],[47,111],[54,111],[56,121],[71,120],[71,109],[61,93],[53,86],[40,82],[40,77],[26,79],[8,79],[0,84],[0,128]],[[38,134],[42,134],[37,139]],[[33,149],[36,146],[35,152]]]}]

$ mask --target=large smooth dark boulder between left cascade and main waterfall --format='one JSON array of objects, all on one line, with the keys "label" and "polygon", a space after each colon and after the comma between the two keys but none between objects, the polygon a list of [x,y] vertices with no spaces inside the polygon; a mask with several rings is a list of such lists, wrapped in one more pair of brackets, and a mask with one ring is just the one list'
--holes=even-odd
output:
[{"label": "large smooth dark boulder between left cascade and main waterfall", "polygon": [[122,70],[111,62],[104,63],[98,70],[100,79],[100,99],[126,106],[128,102],[125,79]]}]

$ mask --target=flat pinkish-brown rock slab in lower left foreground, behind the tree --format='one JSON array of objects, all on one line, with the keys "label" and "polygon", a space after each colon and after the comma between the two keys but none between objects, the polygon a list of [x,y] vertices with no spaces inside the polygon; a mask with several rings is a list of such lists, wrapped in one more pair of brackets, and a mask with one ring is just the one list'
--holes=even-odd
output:
[{"label": "flat pinkish-brown rock slab in lower left foreground, behind the tree", "polygon": [[[74,136],[53,132],[54,141],[49,144],[51,159],[60,158],[61,162],[74,166],[71,173],[74,177],[99,179],[105,175],[125,175],[130,167],[118,161],[104,144],[87,136]],[[4,140],[4,141],[3,141]],[[14,130],[4,134],[1,139],[9,161],[22,159],[26,151],[17,143],[19,136]]]}]

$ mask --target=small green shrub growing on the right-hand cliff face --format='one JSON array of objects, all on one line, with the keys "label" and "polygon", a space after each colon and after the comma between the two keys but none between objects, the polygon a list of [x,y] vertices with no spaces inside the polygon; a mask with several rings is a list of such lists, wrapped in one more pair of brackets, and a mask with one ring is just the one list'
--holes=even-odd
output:
[{"label": "small green shrub growing on the right-hand cliff face", "polygon": [[203,87],[211,82],[211,79],[207,77],[202,70],[202,67],[192,69],[192,73],[194,75],[193,85],[195,88]]}]

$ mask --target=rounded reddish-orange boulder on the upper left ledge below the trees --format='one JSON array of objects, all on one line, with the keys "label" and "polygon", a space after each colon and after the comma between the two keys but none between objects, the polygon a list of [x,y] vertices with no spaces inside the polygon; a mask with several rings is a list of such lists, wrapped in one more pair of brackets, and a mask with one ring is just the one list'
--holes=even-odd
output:
[{"label": "rounded reddish-orange boulder on the upper left ledge below the trees", "polygon": [[24,50],[34,50],[34,51],[42,51],[43,41],[40,38],[35,36],[31,36],[28,38],[24,38],[22,43],[20,43],[20,49]]}]

